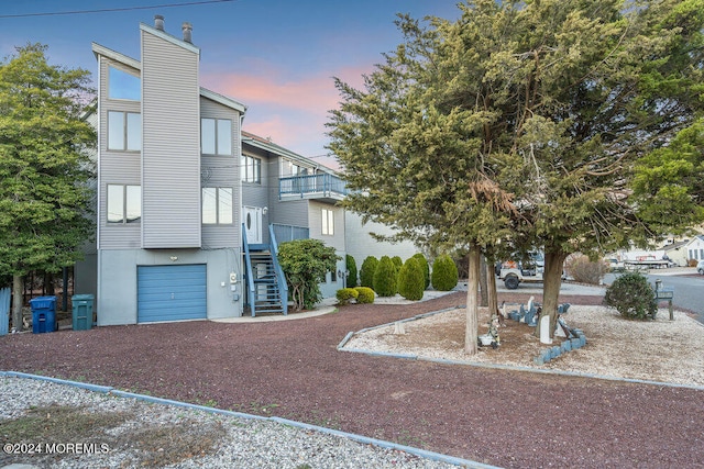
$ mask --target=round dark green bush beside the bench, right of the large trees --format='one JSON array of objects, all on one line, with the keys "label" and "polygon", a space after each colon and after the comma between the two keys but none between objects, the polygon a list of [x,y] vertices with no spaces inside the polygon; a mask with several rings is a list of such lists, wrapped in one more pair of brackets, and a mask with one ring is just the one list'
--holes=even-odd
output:
[{"label": "round dark green bush beside the bench, right of the large trees", "polygon": [[638,272],[627,272],[614,280],[606,289],[604,303],[629,320],[654,317],[658,311],[656,292]]}]

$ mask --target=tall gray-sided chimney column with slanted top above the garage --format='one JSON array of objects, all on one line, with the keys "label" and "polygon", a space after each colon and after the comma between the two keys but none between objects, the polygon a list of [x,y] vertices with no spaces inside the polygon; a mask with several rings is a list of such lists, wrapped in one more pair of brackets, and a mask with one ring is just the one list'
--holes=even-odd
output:
[{"label": "tall gray-sided chimney column with slanted top above the garage", "polygon": [[142,247],[200,247],[199,54],[142,30]]}]

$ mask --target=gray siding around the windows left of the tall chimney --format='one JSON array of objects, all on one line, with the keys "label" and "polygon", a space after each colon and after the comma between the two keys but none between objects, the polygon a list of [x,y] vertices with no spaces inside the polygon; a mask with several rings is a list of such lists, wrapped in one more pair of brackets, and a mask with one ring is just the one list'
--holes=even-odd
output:
[{"label": "gray siding around the windows left of the tall chimney", "polygon": [[108,111],[141,112],[139,101],[111,100],[108,98],[108,67],[113,66],[134,76],[140,76],[140,70],[132,69],[107,57],[99,59],[100,93],[98,111],[100,125],[98,127],[99,139],[99,198],[98,206],[99,225],[98,239],[101,249],[129,249],[140,247],[141,224],[128,225],[107,223],[107,187],[108,185],[142,183],[141,153],[140,152],[109,152],[108,150]]}]

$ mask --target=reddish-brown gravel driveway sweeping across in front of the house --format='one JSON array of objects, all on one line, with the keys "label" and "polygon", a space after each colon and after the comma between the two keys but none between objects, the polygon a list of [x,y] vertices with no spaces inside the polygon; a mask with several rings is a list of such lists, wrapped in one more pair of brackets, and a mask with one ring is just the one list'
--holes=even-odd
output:
[{"label": "reddish-brown gravel driveway sweeping across in front of the house", "polygon": [[464,301],[453,293],[298,321],[10,335],[0,337],[0,369],[215,401],[502,467],[702,467],[702,391],[337,350],[350,331]]}]

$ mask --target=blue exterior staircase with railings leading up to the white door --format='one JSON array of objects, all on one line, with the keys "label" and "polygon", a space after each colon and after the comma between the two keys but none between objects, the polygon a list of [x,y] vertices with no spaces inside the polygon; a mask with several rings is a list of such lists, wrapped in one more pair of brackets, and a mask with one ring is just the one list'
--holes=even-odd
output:
[{"label": "blue exterior staircase with railings leading up to the white door", "polygon": [[246,271],[246,304],[252,317],[263,313],[288,314],[288,287],[278,264],[278,245],[270,226],[270,244],[249,244],[242,225]]}]

